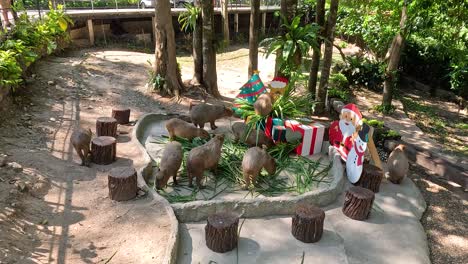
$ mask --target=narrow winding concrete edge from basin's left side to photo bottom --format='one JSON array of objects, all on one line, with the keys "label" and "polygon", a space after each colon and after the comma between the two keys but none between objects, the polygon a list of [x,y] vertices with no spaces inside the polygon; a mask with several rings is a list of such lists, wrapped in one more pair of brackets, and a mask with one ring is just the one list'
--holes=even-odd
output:
[{"label": "narrow winding concrete edge from basin's left side to photo bottom", "polygon": [[[167,241],[167,249],[166,252],[164,253],[163,257],[163,262],[164,264],[173,264],[176,262],[177,258],[177,248],[178,248],[178,239],[179,239],[179,222],[177,221],[177,218],[174,214],[174,210],[172,210],[171,205],[169,202],[164,199],[162,196],[160,196],[155,190],[152,188],[149,188],[148,185],[146,184],[145,178],[148,175],[151,175],[153,173],[153,167],[152,167],[152,160],[151,157],[148,155],[148,152],[146,152],[146,149],[140,142],[140,138],[142,138],[143,131],[140,131],[138,128],[140,127],[142,122],[147,122],[148,116],[152,116],[155,114],[146,114],[140,117],[138,122],[135,124],[135,127],[132,131],[132,141],[138,146],[138,149],[141,151],[141,155],[143,157],[143,166],[136,168],[137,174],[138,174],[138,187],[141,189],[145,190],[153,199],[154,204],[157,205],[162,205],[164,209],[166,210],[167,215],[169,216],[169,222],[171,223],[171,230],[169,234],[169,239]],[[162,115],[166,117],[166,115]]]}]

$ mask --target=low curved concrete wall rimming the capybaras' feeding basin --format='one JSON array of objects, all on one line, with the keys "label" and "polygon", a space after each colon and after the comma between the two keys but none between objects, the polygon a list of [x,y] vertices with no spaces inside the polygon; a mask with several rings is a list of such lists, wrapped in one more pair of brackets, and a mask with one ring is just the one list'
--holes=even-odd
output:
[{"label": "low curved concrete wall rimming the capybaras' feeding basin", "polygon": [[[142,180],[147,179],[152,171],[151,158],[144,148],[145,126],[155,118],[167,119],[167,115],[146,114],[140,118],[135,127],[134,137],[139,140],[140,148],[144,152],[147,165],[142,169]],[[332,176],[332,182],[328,186],[320,186],[318,189],[294,197],[265,197],[252,199],[233,199],[233,200],[212,200],[212,201],[193,201],[188,203],[171,204],[177,219],[180,222],[196,222],[204,220],[208,215],[220,211],[237,212],[243,217],[263,217],[269,215],[291,215],[294,213],[295,205],[298,202],[308,202],[317,206],[326,206],[336,200],[344,188],[343,165],[338,153],[333,148],[329,150],[330,160],[333,162],[329,174]],[[146,185],[146,184],[145,184]],[[153,191],[154,192],[154,191]],[[155,192],[154,192],[155,193]],[[162,198],[157,193],[158,198]]]}]

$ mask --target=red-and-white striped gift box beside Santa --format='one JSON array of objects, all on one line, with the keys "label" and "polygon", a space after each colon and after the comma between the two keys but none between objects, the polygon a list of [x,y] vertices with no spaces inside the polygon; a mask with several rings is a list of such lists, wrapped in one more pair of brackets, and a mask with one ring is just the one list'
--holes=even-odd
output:
[{"label": "red-and-white striped gift box beside Santa", "polygon": [[322,151],[323,136],[325,133],[325,126],[323,124],[315,122],[305,125],[295,120],[286,120],[284,125],[293,132],[299,132],[302,135],[301,143],[296,148],[296,153],[298,155],[309,156]]}]

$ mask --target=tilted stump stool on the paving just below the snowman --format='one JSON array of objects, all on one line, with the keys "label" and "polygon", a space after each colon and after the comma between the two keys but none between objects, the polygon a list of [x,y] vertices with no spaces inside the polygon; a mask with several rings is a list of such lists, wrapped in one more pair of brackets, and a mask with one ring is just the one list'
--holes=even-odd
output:
[{"label": "tilted stump stool on the paving just below the snowman", "polygon": [[352,186],[346,191],[343,213],[354,220],[365,220],[369,217],[374,193],[366,188]]}]

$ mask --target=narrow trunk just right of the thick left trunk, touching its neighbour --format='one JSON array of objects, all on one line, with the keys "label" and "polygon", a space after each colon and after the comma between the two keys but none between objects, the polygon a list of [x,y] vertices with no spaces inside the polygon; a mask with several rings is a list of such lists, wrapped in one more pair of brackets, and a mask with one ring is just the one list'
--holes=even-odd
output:
[{"label": "narrow trunk just right of the thick left trunk, touching its neighbour", "polygon": [[[201,0],[195,0],[196,7],[201,7]],[[203,29],[202,29],[201,14],[198,17],[197,24],[193,30],[193,64],[194,73],[192,78],[193,85],[201,85],[203,83]]]}]

